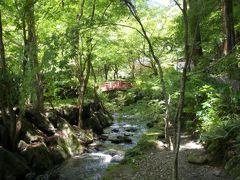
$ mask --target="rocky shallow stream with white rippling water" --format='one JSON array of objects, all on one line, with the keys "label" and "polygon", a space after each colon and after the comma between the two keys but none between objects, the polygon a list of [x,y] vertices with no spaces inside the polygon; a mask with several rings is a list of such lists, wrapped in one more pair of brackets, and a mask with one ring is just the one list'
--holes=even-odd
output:
[{"label": "rocky shallow stream with white rippling water", "polygon": [[[110,164],[119,163],[127,149],[133,148],[143,132],[132,115],[113,114],[113,124],[80,155],[75,155],[39,177],[43,180],[99,180]],[[135,122],[135,124],[134,124]]]}]

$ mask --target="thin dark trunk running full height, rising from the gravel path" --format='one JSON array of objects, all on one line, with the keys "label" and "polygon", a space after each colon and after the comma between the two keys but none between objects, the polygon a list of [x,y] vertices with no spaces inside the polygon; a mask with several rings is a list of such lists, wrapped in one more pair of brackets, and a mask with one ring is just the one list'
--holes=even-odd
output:
[{"label": "thin dark trunk running full height, rising from the gravel path", "polygon": [[[178,4],[178,2],[175,0]],[[189,53],[189,30],[188,30],[188,15],[187,15],[187,1],[183,0],[183,8],[178,4],[183,14],[183,22],[184,22],[184,56],[185,56],[185,65],[182,72],[182,77],[180,81],[180,96],[178,100],[177,112],[175,116],[175,123],[177,125],[176,134],[175,134],[175,146],[174,146],[174,161],[173,161],[173,173],[172,179],[178,179],[178,154],[180,148],[180,140],[181,140],[181,117],[184,106],[185,99],[185,86],[187,81],[187,68],[190,63],[190,53]]]}]

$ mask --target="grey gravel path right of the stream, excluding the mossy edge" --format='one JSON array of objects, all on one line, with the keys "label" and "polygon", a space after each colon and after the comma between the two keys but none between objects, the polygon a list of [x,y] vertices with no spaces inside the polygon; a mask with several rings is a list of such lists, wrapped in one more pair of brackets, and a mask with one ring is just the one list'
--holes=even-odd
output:
[{"label": "grey gravel path right of the stream, excluding the mossy edge", "polygon": [[[203,151],[201,145],[182,140],[179,153],[179,177],[181,180],[232,180],[222,168],[210,165],[196,165],[187,162],[191,152]],[[170,180],[172,173],[173,153],[166,150],[151,150],[146,158],[137,160],[136,169],[120,168],[112,179],[126,180]]]}]

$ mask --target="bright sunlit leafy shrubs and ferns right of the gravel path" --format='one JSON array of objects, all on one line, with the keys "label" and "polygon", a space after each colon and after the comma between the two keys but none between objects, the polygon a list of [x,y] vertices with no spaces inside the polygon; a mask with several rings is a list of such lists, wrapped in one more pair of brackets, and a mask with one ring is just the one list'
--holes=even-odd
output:
[{"label": "bright sunlit leafy shrubs and ferns right of the gravel path", "polygon": [[[229,87],[215,82],[198,90],[196,98],[197,133],[215,160],[228,162],[240,150],[239,106],[231,102]],[[234,152],[231,154],[231,152]]]}]

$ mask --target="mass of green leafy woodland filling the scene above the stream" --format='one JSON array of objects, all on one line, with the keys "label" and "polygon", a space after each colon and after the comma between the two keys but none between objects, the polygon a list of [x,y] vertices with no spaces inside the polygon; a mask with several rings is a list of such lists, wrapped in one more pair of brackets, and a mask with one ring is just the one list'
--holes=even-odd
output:
[{"label": "mass of green leafy woodland filling the scene above the stream", "polygon": [[[182,7],[182,1],[176,2]],[[185,21],[174,4],[153,7],[150,1],[141,0],[1,2],[0,108],[9,137],[6,146],[16,144],[16,123],[21,120],[16,119],[13,107],[20,108],[20,114],[29,107],[43,113],[50,104],[71,99],[79,107],[78,125],[82,127],[84,105],[96,97],[106,100],[98,85],[111,79],[131,81],[139,94],[157,92],[151,98],[164,101],[167,120],[177,112],[180,121],[181,112],[187,113],[188,108],[196,118],[198,112],[206,113],[214,124],[216,117],[206,110],[206,104],[220,98],[219,94],[227,94],[223,99],[233,109],[223,114],[235,114],[240,99],[240,4],[237,0],[183,2]],[[180,93],[176,88],[181,72],[173,67],[179,60],[192,61],[195,67],[183,71],[187,98],[177,108],[177,99],[185,95],[185,82]],[[217,97],[210,96],[211,88],[200,87],[209,82],[220,82]],[[199,91],[204,97],[196,100]],[[199,119],[205,131],[207,123],[200,115]]]}]

